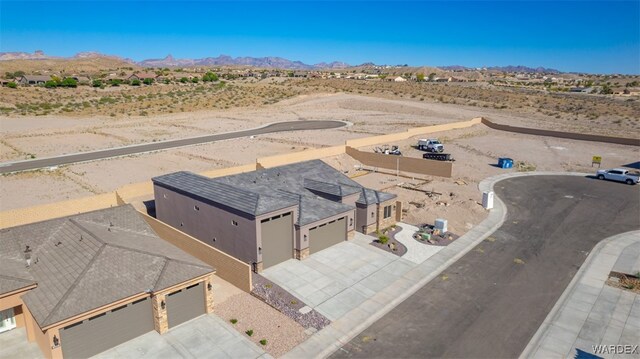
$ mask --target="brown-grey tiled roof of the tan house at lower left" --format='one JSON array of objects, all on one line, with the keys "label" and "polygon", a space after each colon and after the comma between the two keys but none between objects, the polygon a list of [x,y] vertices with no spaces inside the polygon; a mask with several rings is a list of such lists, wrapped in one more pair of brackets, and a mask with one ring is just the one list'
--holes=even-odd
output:
[{"label": "brown-grey tiled roof of the tan house at lower left", "polygon": [[213,271],[159,238],[131,205],[0,231],[0,294],[37,283],[22,299],[40,327]]}]

